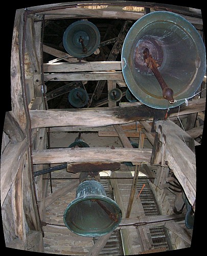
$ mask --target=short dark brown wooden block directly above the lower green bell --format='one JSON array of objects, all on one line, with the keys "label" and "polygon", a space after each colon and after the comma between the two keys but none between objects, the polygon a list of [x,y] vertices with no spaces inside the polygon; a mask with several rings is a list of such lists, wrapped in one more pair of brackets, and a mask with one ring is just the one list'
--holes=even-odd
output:
[{"label": "short dark brown wooden block directly above the lower green bell", "polygon": [[120,168],[121,164],[118,162],[67,163],[68,173],[101,172],[102,170],[116,170]]}]

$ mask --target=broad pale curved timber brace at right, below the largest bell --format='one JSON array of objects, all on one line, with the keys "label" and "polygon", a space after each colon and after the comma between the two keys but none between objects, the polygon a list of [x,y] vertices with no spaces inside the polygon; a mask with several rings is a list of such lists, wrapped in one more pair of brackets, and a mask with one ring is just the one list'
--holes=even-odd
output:
[{"label": "broad pale curved timber brace at right, below the largest bell", "polygon": [[165,161],[178,179],[191,205],[196,199],[196,158],[195,154],[182,140],[189,136],[174,122],[157,121],[156,126],[162,125],[162,131],[166,134]]}]

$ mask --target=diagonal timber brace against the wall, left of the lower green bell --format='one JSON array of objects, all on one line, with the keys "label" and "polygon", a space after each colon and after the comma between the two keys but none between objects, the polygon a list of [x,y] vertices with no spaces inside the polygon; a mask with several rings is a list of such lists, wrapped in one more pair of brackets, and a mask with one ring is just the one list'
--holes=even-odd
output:
[{"label": "diagonal timber brace against the wall, left of the lower green bell", "polygon": [[55,190],[52,194],[50,194],[49,196],[47,196],[47,198],[45,198],[45,208],[47,208],[49,205],[54,203],[61,196],[66,195],[68,192],[78,187],[78,185],[79,185],[79,180],[76,180]]}]

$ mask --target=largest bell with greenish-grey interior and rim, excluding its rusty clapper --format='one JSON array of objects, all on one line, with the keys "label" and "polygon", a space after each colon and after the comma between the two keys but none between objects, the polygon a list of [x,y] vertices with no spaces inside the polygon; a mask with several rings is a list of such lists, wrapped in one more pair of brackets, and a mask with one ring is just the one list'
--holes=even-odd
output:
[{"label": "largest bell with greenish-grey interior and rim, excluding its rusty clapper", "polygon": [[[146,48],[172,89],[174,103],[163,97],[157,78],[147,66]],[[206,70],[205,47],[197,30],[185,18],[167,11],[148,13],[134,23],[125,38],[121,60],[132,95],[155,109],[174,108],[192,97]]]}]

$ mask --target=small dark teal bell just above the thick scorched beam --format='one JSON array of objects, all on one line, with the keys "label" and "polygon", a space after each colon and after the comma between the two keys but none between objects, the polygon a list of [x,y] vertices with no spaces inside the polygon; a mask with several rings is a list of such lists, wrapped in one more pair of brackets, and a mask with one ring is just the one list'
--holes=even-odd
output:
[{"label": "small dark teal bell just above the thick scorched beam", "polygon": [[82,108],[88,103],[88,94],[82,88],[74,88],[68,94],[68,101],[71,105],[75,106],[75,108]]}]

